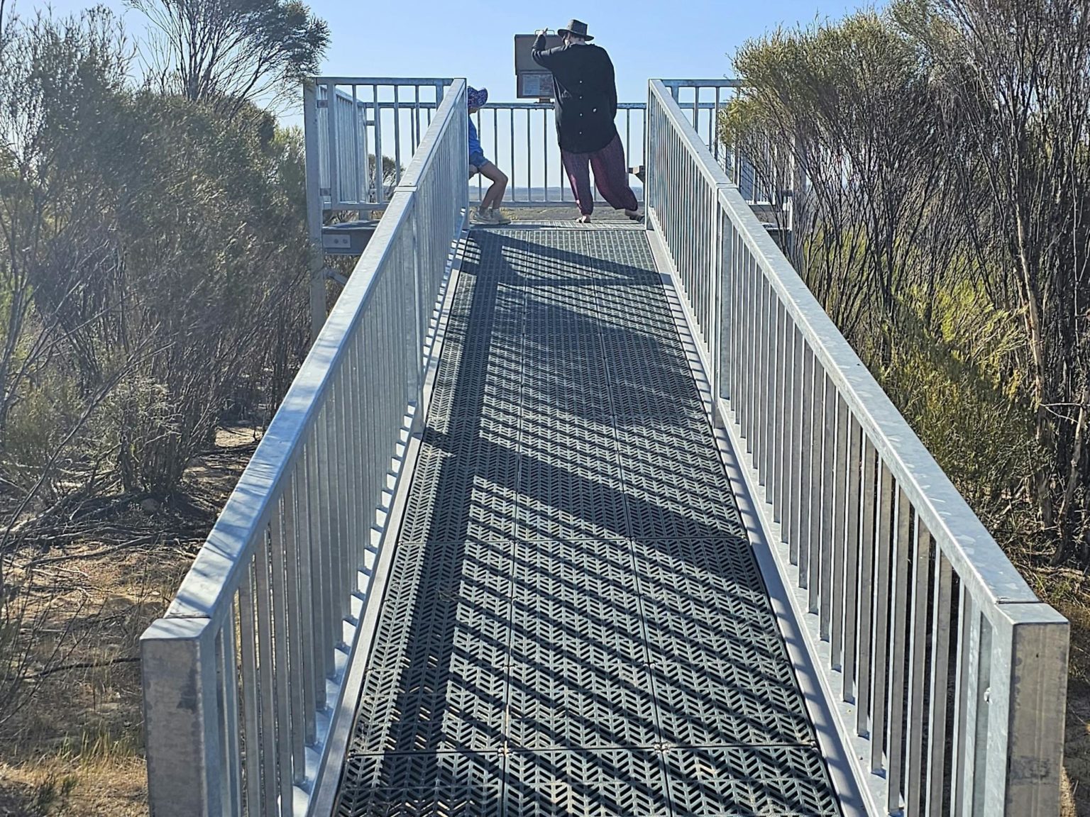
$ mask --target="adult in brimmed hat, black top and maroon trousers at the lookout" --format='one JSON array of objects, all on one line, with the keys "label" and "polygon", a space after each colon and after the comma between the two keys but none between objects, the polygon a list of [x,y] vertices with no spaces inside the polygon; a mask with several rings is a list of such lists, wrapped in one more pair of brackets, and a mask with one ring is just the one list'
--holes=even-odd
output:
[{"label": "adult in brimmed hat, black top and maroon trousers at the lookout", "polygon": [[586,23],[572,20],[558,28],[564,45],[545,50],[545,32],[537,32],[531,54],[553,73],[553,106],[560,159],[579,206],[579,221],[594,212],[591,168],[598,192],[615,209],[639,220],[639,202],[628,183],[625,148],[617,133],[617,83],[609,54],[586,33]]}]

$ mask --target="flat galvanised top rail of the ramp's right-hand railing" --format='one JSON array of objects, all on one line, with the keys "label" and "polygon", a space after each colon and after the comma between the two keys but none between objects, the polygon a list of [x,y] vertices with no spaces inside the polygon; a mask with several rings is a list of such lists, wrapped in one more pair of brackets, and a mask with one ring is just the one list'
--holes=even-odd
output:
[{"label": "flat galvanised top rail of the ramp's right-hand railing", "polygon": [[739,233],[761,260],[766,279],[792,320],[802,328],[823,371],[832,378],[928,531],[944,546],[943,552],[961,581],[974,597],[991,605],[1037,602],[1046,607],[840,334],[775,241],[761,228],[756,216],[742,199],[737,186],[729,183],[707,147],[693,138],[691,125],[667,92],[665,83],[652,81],[651,93],[678,126],[686,147],[700,159],[702,171],[716,182],[719,200],[742,224]]}]

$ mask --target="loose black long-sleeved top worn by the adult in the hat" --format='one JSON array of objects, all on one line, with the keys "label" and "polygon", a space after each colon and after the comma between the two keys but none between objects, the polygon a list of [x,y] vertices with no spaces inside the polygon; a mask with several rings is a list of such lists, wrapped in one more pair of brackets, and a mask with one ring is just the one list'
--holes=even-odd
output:
[{"label": "loose black long-sleeved top worn by the adult in the hat", "polygon": [[531,52],[542,68],[553,72],[553,107],[560,149],[573,154],[601,150],[617,135],[617,83],[613,62],[604,48],[590,44],[542,50],[537,36]]}]

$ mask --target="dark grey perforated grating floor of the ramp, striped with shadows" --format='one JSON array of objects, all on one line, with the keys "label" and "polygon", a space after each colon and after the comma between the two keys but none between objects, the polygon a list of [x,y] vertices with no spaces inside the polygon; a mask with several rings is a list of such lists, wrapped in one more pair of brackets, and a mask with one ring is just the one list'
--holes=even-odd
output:
[{"label": "dark grey perforated grating floor of the ramp, striped with shadows", "polygon": [[337,814],[839,815],[644,233],[452,304]]}]

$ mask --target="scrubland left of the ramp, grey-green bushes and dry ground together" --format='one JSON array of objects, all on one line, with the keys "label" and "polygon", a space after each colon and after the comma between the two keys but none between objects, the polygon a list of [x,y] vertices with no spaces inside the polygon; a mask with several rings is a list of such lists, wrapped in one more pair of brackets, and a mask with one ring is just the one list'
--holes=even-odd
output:
[{"label": "scrubland left of the ramp, grey-green bushes and dry ground together", "polygon": [[308,342],[276,111],[325,24],[133,8],[137,41],[0,0],[0,814],[146,812],[137,638]]}]

